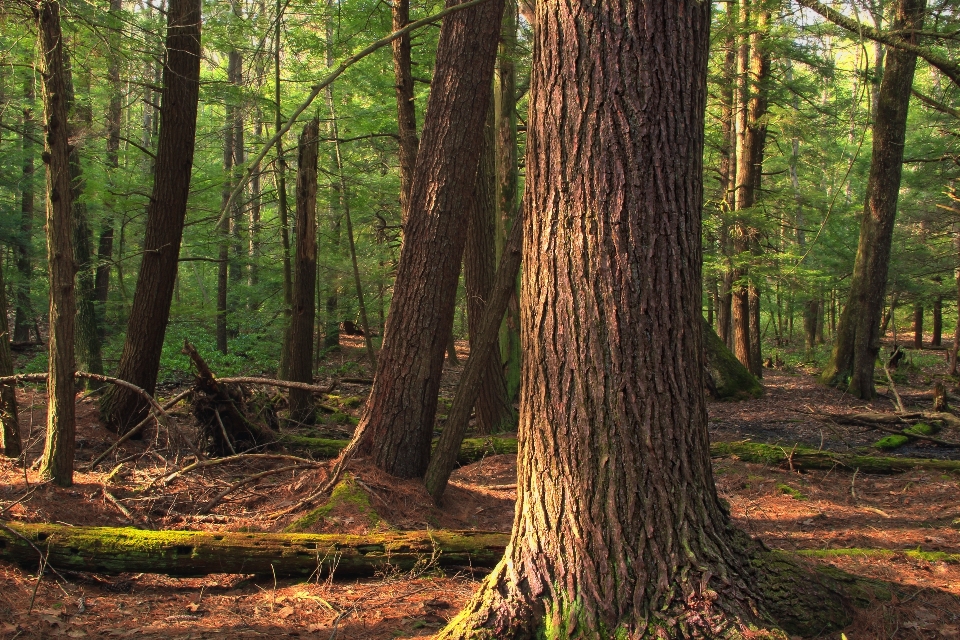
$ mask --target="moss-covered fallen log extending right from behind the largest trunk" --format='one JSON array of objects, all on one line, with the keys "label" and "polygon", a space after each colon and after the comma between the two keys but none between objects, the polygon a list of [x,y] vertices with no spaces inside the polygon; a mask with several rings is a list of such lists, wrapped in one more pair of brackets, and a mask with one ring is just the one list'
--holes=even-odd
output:
[{"label": "moss-covered fallen log extending right from behind the largest trunk", "polygon": [[860,473],[903,473],[912,469],[960,473],[960,460],[932,460],[928,458],[892,458],[858,456],[832,451],[817,451],[799,445],[772,445],[758,442],[713,442],[710,455],[714,458],[736,456],[744,462],[777,465],[794,469],[859,469]]}]

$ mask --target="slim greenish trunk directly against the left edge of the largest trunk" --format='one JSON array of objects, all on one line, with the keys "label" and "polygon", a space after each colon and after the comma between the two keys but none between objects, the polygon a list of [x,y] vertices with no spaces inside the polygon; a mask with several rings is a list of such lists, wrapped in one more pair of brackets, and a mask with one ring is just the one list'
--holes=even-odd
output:
[{"label": "slim greenish trunk directly against the left edge of the largest trunk", "polygon": [[[517,167],[517,0],[507,0],[500,31],[498,71],[494,78],[497,136],[497,259],[513,229],[520,201],[520,172]],[[503,365],[507,398],[512,403],[520,393],[520,298],[517,286],[507,304],[500,328],[500,361]]]}]

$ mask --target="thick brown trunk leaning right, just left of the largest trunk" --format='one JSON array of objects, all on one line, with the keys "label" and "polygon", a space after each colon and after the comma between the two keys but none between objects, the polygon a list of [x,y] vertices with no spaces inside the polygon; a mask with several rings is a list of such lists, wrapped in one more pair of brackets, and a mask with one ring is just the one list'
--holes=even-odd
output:
[{"label": "thick brown trunk leaning right, just left of the largest trunk", "polygon": [[440,30],[393,303],[358,430],[361,449],[396,476],[422,476],[430,458],[502,11],[503,0],[490,0]]}]

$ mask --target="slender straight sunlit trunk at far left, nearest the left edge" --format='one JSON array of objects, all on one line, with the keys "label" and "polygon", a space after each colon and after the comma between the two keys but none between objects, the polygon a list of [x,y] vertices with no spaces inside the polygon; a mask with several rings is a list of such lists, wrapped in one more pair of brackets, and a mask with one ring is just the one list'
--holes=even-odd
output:
[{"label": "slender straight sunlit trunk at far left, nearest the left edge", "polygon": [[35,9],[40,34],[43,78],[44,147],[47,165],[47,264],[50,278],[50,355],[47,379],[47,439],[40,475],[54,483],[73,484],[76,432],[73,374],[74,299],[73,208],[70,189],[68,95],[60,28],[60,4],[42,1]]}]

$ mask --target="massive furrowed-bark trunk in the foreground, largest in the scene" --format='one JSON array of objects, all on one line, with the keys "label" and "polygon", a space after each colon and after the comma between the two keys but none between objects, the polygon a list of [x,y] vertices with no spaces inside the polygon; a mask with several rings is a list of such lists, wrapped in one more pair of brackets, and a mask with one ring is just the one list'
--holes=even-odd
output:
[{"label": "massive furrowed-bark trunk in the foreground, largest in the scene", "polygon": [[[709,458],[710,5],[543,2],[536,23],[517,515],[504,561],[438,638],[732,637],[763,624],[772,568],[733,528]],[[778,586],[820,613],[833,600],[814,585]]]}]

